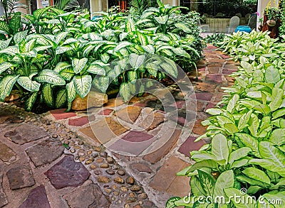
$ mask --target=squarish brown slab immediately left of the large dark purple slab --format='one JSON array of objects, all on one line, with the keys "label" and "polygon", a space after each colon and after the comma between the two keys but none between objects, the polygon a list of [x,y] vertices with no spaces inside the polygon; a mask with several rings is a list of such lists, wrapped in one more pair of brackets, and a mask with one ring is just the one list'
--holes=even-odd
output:
[{"label": "squarish brown slab immediately left of the large dark purple slab", "polygon": [[21,165],[16,168],[11,168],[6,173],[11,190],[17,190],[24,187],[35,185],[33,174],[31,173],[30,165]]}]

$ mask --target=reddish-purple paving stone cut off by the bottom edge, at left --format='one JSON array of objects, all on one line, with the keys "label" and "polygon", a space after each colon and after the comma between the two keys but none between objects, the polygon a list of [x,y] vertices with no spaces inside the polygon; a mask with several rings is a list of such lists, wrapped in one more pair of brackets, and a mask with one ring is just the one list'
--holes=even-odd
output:
[{"label": "reddish-purple paving stone cut off by the bottom edge, at left", "polygon": [[46,196],[46,189],[43,185],[40,185],[31,190],[30,194],[19,208],[32,207],[51,208],[48,202],[48,197]]}]

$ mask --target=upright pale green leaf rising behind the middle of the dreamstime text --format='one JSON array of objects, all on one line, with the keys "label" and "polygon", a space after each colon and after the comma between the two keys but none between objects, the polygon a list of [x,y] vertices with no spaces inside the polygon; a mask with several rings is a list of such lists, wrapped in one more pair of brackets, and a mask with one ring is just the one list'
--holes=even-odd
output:
[{"label": "upright pale green leaf rising behind the middle of the dreamstime text", "polygon": [[[214,185],[214,197],[226,197],[224,194],[224,190],[234,187],[234,172],[232,170],[227,170],[223,172],[219,177],[217,178],[217,181]],[[227,202],[227,199],[225,200]]]}]

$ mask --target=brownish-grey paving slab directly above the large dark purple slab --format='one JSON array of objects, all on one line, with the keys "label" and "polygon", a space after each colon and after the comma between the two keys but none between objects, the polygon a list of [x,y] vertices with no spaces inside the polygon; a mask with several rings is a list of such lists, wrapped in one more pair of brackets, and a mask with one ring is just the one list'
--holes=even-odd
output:
[{"label": "brownish-grey paving slab directly above the large dark purple slab", "polygon": [[48,138],[28,148],[26,153],[33,161],[33,164],[38,167],[59,158],[63,154],[63,150],[64,147],[60,141]]}]

